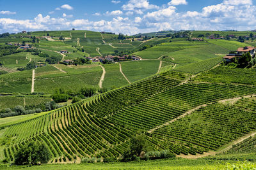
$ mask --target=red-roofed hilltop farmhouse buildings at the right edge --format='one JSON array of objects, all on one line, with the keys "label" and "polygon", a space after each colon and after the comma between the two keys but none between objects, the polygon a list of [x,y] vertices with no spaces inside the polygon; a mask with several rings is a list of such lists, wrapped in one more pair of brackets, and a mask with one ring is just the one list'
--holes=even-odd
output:
[{"label": "red-roofed hilltop farmhouse buildings at the right edge", "polygon": [[230,52],[228,55],[223,57],[223,60],[226,62],[233,62],[236,59],[239,59],[243,56],[244,53],[250,53],[252,57],[255,57],[256,48],[253,46],[244,46],[241,48],[238,48],[234,52]]}]

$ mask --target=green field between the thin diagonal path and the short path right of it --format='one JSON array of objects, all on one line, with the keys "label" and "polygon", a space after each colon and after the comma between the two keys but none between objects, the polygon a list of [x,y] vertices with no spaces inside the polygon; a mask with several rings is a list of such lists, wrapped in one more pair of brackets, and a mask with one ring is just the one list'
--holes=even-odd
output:
[{"label": "green field between the thin diagonal path and the short path right of it", "polygon": [[159,60],[121,62],[121,65],[122,71],[128,80],[134,82],[156,74],[159,68]]}]

